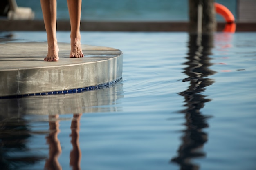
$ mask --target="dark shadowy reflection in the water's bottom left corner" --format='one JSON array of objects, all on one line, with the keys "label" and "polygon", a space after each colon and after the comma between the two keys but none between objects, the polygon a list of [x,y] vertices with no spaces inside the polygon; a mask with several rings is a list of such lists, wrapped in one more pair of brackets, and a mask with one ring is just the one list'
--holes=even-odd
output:
[{"label": "dark shadowy reflection in the water's bottom left corner", "polygon": [[31,136],[25,119],[0,117],[0,170],[22,169],[45,159],[27,146]]}]

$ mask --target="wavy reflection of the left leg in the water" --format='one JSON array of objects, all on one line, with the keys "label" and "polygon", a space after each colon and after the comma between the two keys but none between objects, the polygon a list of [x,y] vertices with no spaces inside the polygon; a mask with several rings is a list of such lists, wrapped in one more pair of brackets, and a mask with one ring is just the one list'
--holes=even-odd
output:
[{"label": "wavy reflection of the left leg in the water", "polygon": [[[53,119],[53,120],[50,120]],[[49,115],[49,135],[46,137],[49,144],[49,159],[45,161],[45,169],[61,170],[61,165],[58,162],[58,156],[61,154],[61,144],[58,140],[59,123],[58,115]]]}]

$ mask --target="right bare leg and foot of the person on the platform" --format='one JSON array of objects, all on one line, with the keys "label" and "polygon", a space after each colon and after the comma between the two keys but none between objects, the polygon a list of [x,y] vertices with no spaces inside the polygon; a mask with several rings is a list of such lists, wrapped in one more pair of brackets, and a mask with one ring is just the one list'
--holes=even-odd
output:
[{"label": "right bare leg and foot of the person on the platform", "polygon": [[70,14],[70,58],[83,57],[81,48],[80,20],[81,20],[82,0],[67,0],[68,12]]}]

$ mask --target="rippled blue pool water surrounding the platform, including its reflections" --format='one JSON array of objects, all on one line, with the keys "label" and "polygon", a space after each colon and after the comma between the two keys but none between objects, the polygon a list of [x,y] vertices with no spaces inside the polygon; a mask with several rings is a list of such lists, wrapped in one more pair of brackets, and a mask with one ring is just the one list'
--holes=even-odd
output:
[{"label": "rippled blue pool water surrounding the platform, including its reflections", "polygon": [[[45,32],[12,34],[14,42],[47,40]],[[81,36],[124,52],[122,80],[1,99],[1,170],[256,169],[256,33]],[[69,37],[57,33],[58,42]]]}]

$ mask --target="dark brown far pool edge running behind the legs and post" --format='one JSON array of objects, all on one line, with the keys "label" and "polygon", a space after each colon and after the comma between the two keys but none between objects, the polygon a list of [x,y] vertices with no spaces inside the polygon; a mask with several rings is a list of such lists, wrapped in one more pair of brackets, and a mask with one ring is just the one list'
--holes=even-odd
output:
[{"label": "dark brown far pool edge running behind the legs and post", "polygon": [[[45,31],[43,20],[0,19],[0,31]],[[217,31],[222,31],[225,22],[217,23]],[[70,31],[69,20],[57,21],[58,31]],[[189,31],[186,21],[81,21],[81,31]],[[236,22],[236,32],[256,31],[256,22]]]}]

